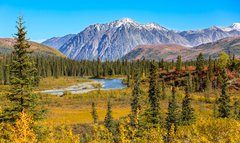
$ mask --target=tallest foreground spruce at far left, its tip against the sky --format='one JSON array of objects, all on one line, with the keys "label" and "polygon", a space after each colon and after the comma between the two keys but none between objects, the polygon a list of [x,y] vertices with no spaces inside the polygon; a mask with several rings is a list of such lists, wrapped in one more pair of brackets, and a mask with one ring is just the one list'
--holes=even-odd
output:
[{"label": "tallest foreground spruce at far left, its tip against the sky", "polygon": [[12,53],[10,64],[10,93],[7,99],[10,106],[5,109],[4,120],[15,121],[23,110],[38,119],[39,112],[36,111],[37,95],[34,94],[33,86],[36,82],[37,69],[29,56],[30,45],[26,40],[26,30],[23,18],[17,22],[16,44]]}]

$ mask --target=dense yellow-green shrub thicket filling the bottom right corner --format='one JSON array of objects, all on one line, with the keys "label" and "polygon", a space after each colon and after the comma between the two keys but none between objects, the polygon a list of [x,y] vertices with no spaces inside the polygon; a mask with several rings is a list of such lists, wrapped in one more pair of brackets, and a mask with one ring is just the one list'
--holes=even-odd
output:
[{"label": "dense yellow-green shrub thicket filling the bottom right corner", "polygon": [[176,141],[237,143],[240,141],[240,122],[234,119],[200,118],[191,126],[180,127]]}]

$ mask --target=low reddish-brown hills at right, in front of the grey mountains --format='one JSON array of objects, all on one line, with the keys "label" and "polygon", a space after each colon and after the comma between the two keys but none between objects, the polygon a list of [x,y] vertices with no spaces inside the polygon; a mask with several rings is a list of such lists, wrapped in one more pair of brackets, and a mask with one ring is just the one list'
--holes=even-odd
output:
[{"label": "low reddish-brown hills at right, in front of the grey mountains", "polygon": [[153,44],[139,45],[134,50],[126,54],[123,59],[155,59],[155,60],[175,60],[178,55],[183,60],[195,59],[199,53],[203,53],[205,58],[210,55],[217,58],[218,53],[226,52],[240,57],[240,37],[230,37],[218,40],[216,42],[202,44],[193,48],[188,48],[176,44]]}]

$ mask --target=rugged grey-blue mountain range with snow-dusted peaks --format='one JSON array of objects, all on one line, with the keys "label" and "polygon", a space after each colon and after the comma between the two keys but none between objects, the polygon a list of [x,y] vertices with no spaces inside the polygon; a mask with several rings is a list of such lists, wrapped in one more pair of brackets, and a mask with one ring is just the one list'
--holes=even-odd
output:
[{"label": "rugged grey-blue mountain range with snow-dusted peaks", "polygon": [[[129,18],[94,24],[78,34],[54,37],[43,42],[71,59],[116,60],[140,45],[172,44],[176,49],[192,49],[226,37],[240,36],[240,23],[201,30],[176,31],[156,23],[139,24]],[[126,57],[126,56],[125,56]]]}]

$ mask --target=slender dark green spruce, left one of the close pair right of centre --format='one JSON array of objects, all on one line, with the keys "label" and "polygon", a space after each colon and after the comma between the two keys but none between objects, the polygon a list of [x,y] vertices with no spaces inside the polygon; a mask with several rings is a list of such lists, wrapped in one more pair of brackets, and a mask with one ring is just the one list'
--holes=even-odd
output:
[{"label": "slender dark green spruce, left one of the close pair right of centre", "polygon": [[168,104],[168,113],[167,113],[167,118],[166,118],[166,128],[168,130],[168,134],[170,133],[171,126],[174,125],[174,131],[177,131],[177,124],[178,124],[178,119],[177,119],[177,102],[176,102],[176,97],[175,97],[175,87],[172,87],[172,98],[169,99],[169,104]]}]

